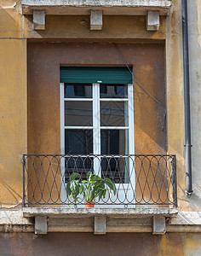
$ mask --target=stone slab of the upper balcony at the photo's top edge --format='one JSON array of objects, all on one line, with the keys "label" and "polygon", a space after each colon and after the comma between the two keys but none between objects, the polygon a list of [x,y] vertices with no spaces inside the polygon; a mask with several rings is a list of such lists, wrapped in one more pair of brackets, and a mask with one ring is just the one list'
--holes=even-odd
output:
[{"label": "stone slab of the upper balcony at the photo's top edge", "polygon": [[101,9],[103,15],[146,15],[147,10],[158,10],[168,15],[171,0],[22,0],[24,15],[33,10],[44,10],[46,15],[89,15],[91,9]]}]

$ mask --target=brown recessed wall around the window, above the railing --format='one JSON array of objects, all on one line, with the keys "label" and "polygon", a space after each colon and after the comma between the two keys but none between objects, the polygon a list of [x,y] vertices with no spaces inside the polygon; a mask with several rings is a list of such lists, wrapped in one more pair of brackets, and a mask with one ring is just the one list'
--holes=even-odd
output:
[{"label": "brown recessed wall around the window, above the railing", "polygon": [[[166,104],[164,44],[118,44],[135,77]],[[60,65],[124,66],[114,44],[28,44],[28,153],[60,154]],[[165,108],[134,83],[135,154],[166,154]],[[58,178],[59,182],[59,178]]]}]

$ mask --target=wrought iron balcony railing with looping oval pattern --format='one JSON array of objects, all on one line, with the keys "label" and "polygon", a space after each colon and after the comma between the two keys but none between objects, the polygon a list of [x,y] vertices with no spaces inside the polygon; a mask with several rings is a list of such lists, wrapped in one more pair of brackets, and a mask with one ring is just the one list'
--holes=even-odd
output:
[{"label": "wrought iron balcony railing with looping oval pattern", "polygon": [[[27,207],[82,207],[87,193],[82,184],[89,184],[90,173],[104,179],[106,189],[105,196],[100,192],[100,197],[95,198],[95,207],[177,207],[175,155],[159,154],[24,154],[23,204]],[[73,175],[77,189],[83,188],[77,190],[77,196],[69,190],[69,186],[73,189],[75,185],[71,183]],[[115,190],[105,183],[108,179]],[[93,185],[89,184],[89,189],[95,194]]]}]

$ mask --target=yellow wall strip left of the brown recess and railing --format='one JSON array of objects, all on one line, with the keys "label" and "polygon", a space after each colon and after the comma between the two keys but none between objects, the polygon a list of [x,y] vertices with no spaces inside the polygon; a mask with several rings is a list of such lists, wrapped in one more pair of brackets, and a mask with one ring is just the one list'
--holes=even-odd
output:
[{"label": "yellow wall strip left of the brown recess and railing", "polygon": [[22,200],[26,153],[26,40],[16,1],[0,1],[0,207]]}]

